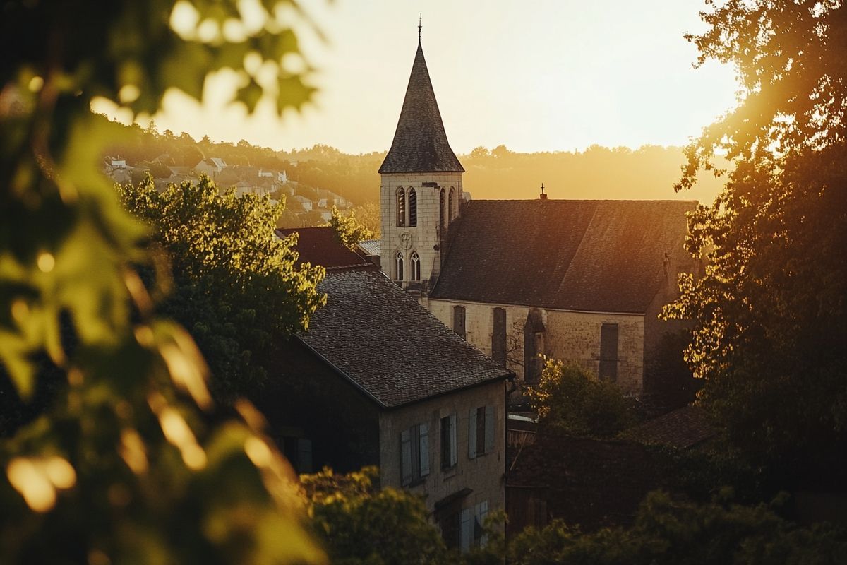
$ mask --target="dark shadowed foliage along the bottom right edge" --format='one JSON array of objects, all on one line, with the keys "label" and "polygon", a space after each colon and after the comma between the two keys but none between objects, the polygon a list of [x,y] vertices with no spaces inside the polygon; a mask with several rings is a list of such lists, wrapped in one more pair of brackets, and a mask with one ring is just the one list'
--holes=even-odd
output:
[{"label": "dark shadowed foliage along the bottom right edge", "polygon": [[845,559],[843,529],[800,528],[765,505],[720,498],[697,505],[658,491],[642,502],[631,528],[586,534],[554,520],[544,529],[525,529],[507,549],[507,562],[515,565],[835,565]]}]

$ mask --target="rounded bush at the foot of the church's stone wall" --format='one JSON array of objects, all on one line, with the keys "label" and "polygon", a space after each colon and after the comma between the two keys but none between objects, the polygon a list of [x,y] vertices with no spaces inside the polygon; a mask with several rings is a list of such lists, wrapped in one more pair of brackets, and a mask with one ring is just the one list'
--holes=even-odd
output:
[{"label": "rounded bush at the foot of the church's stone wall", "polygon": [[612,437],[636,422],[631,398],[573,363],[547,359],[539,384],[527,395],[539,424],[569,435]]}]

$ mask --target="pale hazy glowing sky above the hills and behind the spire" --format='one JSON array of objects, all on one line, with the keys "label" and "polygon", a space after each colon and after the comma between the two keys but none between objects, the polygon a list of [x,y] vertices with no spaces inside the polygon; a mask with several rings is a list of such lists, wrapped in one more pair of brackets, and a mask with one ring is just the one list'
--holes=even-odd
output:
[{"label": "pale hazy glowing sky above the hills and behind the spire", "polygon": [[[693,69],[686,31],[702,30],[702,0],[336,0],[306,2],[329,42],[305,38],[321,92],[303,114],[166,99],[159,130],[345,152],[390,147],[412,59],[423,45],[447,136],[457,153],[591,144],[682,145],[734,105],[732,69]],[[208,84],[224,88],[225,79]]]}]

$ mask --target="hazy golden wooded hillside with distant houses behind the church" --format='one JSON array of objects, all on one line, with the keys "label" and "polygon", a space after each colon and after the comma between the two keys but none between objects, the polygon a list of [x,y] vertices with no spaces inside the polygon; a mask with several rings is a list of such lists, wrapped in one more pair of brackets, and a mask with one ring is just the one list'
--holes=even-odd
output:
[{"label": "hazy golden wooded hillside with distant houses behind the church", "polygon": [[[202,158],[222,158],[230,165],[285,170],[302,186],[324,189],[354,205],[379,202],[379,164],[385,152],[348,155],[316,145],[291,152],[237,144],[195,141],[188,134],[159,133],[155,126],[130,126],[130,141],[109,148],[109,155],[131,166],[150,163],[193,167]],[[583,152],[511,152],[507,147],[478,147],[460,155],[467,170],[464,188],[476,199],[537,198],[543,182],[551,198],[684,199],[711,202],[722,179],[707,175],[692,191],[675,193],[684,162],[682,148],[592,146]]]}]

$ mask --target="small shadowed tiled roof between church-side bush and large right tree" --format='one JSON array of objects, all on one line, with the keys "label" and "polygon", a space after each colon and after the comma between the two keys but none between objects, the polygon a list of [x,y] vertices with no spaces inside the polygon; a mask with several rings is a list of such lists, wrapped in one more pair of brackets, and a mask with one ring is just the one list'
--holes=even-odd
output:
[{"label": "small shadowed tiled roof between church-side bush and large right tree", "polygon": [[644,444],[658,444],[686,449],[714,437],[706,412],[700,407],[686,406],[667,413],[637,428],[628,429],[623,438]]}]

